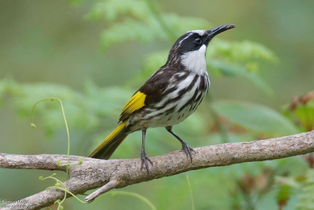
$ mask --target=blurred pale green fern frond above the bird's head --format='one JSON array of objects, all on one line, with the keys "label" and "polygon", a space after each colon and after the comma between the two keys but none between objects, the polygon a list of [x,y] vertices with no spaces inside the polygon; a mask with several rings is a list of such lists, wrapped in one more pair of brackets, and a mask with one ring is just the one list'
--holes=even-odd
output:
[{"label": "blurred pale green fern frond above the bird's head", "polygon": [[[158,19],[152,14],[153,11],[149,9],[145,1],[127,1],[126,4],[124,1],[121,2],[123,3],[119,6],[114,1],[101,3],[89,15],[94,18],[104,16],[107,21],[111,22],[101,34],[101,44],[104,49],[127,41],[147,43],[159,39],[168,40],[169,36],[163,24],[171,28],[171,33],[173,32],[175,37],[189,30],[209,28],[209,23],[204,19],[182,17],[175,13],[159,13],[160,19]],[[118,15],[125,17],[120,21],[114,21]]]}]

